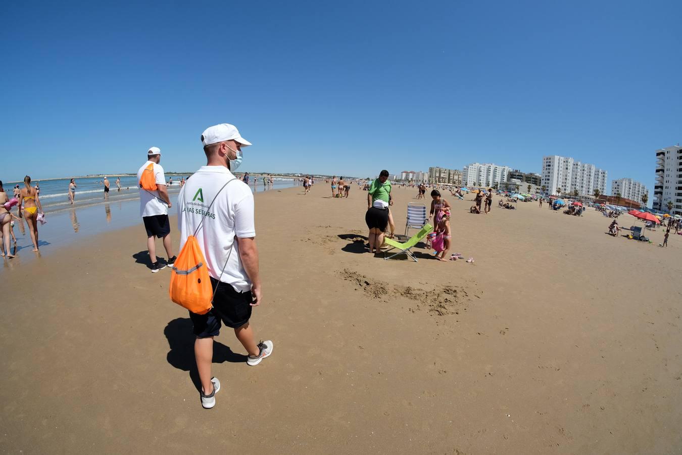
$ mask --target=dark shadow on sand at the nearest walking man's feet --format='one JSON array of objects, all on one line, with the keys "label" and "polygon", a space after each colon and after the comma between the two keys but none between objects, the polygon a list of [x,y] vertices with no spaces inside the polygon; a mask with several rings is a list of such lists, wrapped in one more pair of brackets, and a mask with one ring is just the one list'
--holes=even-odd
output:
[{"label": "dark shadow on sand at the nearest walking man's feet", "polygon": [[[225,328],[225,327],[223,327]],[[229,329],[229,327],[227,327]],[[192,332],[192,320],[190,318],[177,318],[170,321],[164,328],[164,335],[168,340],[168,363],[178,370],[190,373],[190,379],[194,383],[197,392],[201,390],[201,381],[194,362],[194,333]],[[246,362],[246,355],[236,354],[218,341],[213,341],[213,363],[222,364],[224,362],[241,363]]]}]

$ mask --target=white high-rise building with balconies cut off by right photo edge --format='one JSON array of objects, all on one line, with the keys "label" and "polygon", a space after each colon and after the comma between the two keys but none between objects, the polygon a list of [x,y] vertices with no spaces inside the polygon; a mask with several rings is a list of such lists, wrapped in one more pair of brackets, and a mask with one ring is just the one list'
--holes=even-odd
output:
[{"label": "white high-rise building with balconies cut off by right photo edge", "polygon": [[653,187],[653,208],[682,215],[682,147],[666,147],[656,151],[656,183]]}]

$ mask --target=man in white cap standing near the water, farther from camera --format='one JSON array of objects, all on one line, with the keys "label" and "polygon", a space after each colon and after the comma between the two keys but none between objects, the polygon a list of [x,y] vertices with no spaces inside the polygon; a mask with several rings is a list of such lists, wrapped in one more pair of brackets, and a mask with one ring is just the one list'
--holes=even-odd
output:
[{"label": "man in white cap standing near the water, farther from camera", "polygon": [[[175,256],[173,256],[173,244],[170,243],[170,222],[168,222],[168,208],[173,207],[168,197],[168,188],[166,188],[166,176],[164,175],[164,168],[161,167],[161,149],[158,147],[151,147],[147,151],[147,162],[143,164],[139,171],[137,171],[138,188],[140,189],[140,216],[145,222],[145,229],[147,230],[147,250],[149,250],[149,259],[151,259],[151,271],[164,269],[167,265],[175,263]],[[156,184],[156,190],[145,190],[140,184],[140,179],[143,177],[145,169],[149,165],[153,165],[153,175]],[[156,244],[154,236],[164,239],[164,248],[168,254],[168,261],[159,261],[156,257]]]}]

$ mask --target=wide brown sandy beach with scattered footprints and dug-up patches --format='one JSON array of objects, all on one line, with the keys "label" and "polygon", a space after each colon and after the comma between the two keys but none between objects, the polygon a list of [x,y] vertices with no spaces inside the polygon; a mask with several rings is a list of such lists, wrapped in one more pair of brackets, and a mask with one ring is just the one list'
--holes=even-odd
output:
[{"label": "wide brown sandy beach with scattered footprints and dug-up patches", "polygon": [[[3,259],[2,451],[682,450],[682,236],[659,248],[661,229],[652,244],[614,238],[593,209],[495,198],[473,215],[471,195],[446,196],[451,252],[475,262],[424,248],[418,263],[384,261],[364,248],[367,193],[329,193],[318,181],[307,195],[256,194],[264,302],[252,324],[276,349],[249,368],[223,328],[211,410],[188,313],[168,299],[170,271],[149,273],[141,220]],[[396,233],[416,193],[394,188]]]}]

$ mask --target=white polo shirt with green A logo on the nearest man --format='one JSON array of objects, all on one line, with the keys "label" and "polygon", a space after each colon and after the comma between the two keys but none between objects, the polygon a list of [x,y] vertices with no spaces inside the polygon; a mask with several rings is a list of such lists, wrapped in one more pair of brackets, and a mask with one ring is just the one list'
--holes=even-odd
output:
[{"label": "white polo shirt with green A logo on the nearest man", "polygon": [[[194,235],[203,218],[196,240],[208,264],[209,274],[216,280],[231,284],[237,291],[245,292],[251,290],[251,281],[241,264],[235,236],[256,236],[254,196],[248,185],[239,179],[231,181],[218,194],[220,188],[234,178],[233,173],[224,166],[199,168],[180,190],[177,229],[180,231],[182,249],[187,237]],[[214,198],[216,201],[211,206]]]}]

